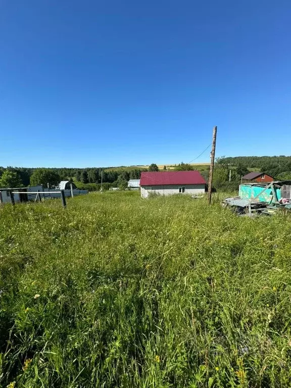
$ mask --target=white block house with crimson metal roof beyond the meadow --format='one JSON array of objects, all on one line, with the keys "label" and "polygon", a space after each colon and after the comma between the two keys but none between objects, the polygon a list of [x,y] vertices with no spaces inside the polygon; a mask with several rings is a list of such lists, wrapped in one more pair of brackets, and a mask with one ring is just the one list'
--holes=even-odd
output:
[{"label": "white block house with crimson metal roof beyond the meadow", "polygon": [[205,179],[199,171],[153,171],[142,172],[140,176],[142,198],[148,198],[150,193],[161,196],[204,194],[205,185]]}]

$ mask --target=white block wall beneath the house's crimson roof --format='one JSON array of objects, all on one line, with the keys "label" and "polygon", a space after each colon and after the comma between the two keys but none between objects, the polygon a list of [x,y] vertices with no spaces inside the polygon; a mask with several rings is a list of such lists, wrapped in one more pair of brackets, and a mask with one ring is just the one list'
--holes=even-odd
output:
[{"label": "white block wall beneath the house's crimson roof", "polygon": [[[185,187],[185,192],[179,193],[179,187]],[[169,196],[172,194],[201,195],[205,193],[205,184],[165,184],[140,187],[142,198],[148,198],[151,192],[160,196]]]}]

